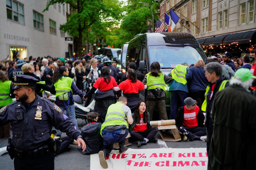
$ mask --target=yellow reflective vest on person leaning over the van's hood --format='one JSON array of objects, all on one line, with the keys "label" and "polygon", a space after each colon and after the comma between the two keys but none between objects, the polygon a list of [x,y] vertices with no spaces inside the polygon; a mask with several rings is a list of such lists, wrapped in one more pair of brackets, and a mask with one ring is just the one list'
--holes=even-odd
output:
[{"label": "yellow reflective vest on person leaning over the van's hood", "polygon": [[176,65],[176,67],[171,70],[171,77],[178,83],[186,84],[187,68],[187,66],[181,64]]}]

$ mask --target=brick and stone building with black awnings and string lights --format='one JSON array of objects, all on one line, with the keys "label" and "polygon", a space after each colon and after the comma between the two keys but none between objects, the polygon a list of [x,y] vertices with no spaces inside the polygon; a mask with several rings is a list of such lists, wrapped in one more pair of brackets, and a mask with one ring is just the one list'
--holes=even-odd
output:
[{"label": "brick and stone building with black awnings and string lights", "polygon": [[160,17],[164,19],[164,13],[173,7],[174,12],[180,16],[180,23],[176,24],[174,31],[190,32],[207,52],[230,51],[239,55],[255,49],[255,0],[158,2]]}]

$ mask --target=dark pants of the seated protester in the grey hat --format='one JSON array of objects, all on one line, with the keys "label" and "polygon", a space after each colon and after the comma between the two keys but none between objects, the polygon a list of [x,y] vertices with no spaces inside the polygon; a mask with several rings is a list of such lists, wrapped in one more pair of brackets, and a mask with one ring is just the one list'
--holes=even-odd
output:
[{"label": "dark pants of the seated protester in the grey hat", "polygon": [[206,128],[205,127],[183,127],[183,126],[181,126],[179,128],[179,132],[182,133],[183,135],[186,135],[190,139],[190,141],[193,141],[195,138],[195,135],[205,136]]}]

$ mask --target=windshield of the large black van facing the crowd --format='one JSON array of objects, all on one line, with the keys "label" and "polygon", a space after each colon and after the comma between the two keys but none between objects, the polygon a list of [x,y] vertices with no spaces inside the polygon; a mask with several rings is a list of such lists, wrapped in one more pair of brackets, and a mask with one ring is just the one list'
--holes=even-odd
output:
[{"label": "windshield of the large black van facing the crowd", "polygon": [[198,60],[206,60],[203,51],[194,45],[160,45],[149,46],[149,63],[157,61],[161,68],[174,68],[186,62],[195,64]]}]

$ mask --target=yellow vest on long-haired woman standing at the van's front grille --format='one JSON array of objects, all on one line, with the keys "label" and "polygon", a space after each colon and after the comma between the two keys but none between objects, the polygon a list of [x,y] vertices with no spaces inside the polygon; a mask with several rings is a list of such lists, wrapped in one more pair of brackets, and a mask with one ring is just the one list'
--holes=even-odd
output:
[{"label": "yellow vest on long-haired woman standing at the van's front grille", "polygon": [[151,76],[150,73],[146,74],[148,90],[160,87],[165,91],[164,73],[159,73],[159,77]]}]

